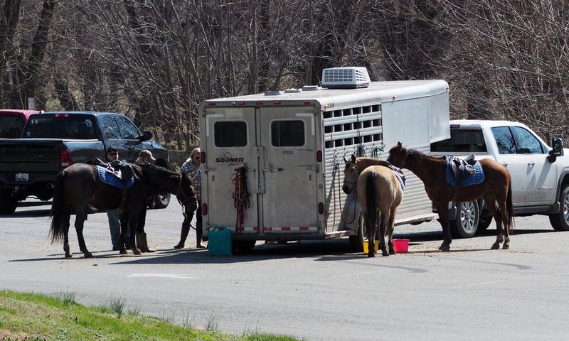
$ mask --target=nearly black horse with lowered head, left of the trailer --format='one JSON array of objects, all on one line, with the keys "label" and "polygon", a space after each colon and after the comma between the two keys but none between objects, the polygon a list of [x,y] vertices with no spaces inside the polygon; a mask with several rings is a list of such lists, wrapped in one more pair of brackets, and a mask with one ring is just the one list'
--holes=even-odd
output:
[{"label": "nearly black horse with lowered head, left of the trailer", "polygon": [[[176,195],[182,205],[189,205],[196,210],[197,200],[191,187],[188,175],[180,175],[168,171],[166,168],[153,165],[131,165],[135,178],[134,185],[127,190],[127,197],[122,214],[128,217],[130,229],[130,245],[134,254],[140,254],[135,242],[135,233],[140,210],[147,203],[147,198],[160,193]],[[51,241],[63,239],[65,257],[70,257],[69,250],[69,220],[75,213],[75,230],[79,248],[87,258],[92,254],[85,246],[83,239],[83,223],[87,220],[88,207],[100,210],[115,210],[122,201],[122,190],[112,185],[102,183],[98,176],[97,167],[86,163],[75,163],[65,168],[55,180],[53,204],[50,217],[52,217],[50,234]],[[127,254],[124,249],[124,229],[120,234],[120,254]]]}]

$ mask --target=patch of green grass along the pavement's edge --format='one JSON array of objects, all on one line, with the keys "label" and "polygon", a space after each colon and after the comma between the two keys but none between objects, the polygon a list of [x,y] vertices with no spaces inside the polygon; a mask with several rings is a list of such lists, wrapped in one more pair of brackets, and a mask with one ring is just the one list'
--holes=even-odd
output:
[{"label": "patch of green grass along the pavement's edge", "polygon": [[[294,341],[293,337],[244,332],[226,335],[216,332],[211,317],[206,330],[169,323],[171,318],[145,317],[139,310],[125,311],[124,301],[113,300],[107,307],[86,307],[75,302],[75,293],[0,291],[0,341],[7,340],[249,340]],[[193,325],[193,323],[191,323]]]}]

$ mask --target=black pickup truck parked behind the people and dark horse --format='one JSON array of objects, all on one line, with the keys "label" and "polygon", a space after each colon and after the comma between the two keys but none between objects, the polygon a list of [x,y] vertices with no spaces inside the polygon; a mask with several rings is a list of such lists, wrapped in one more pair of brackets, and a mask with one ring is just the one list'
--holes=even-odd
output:
[{"label": "black pickup truck parked behind the people and dark horse", "polygon": [[[114,146],[119,158],[134,162],[148,149],[156,164],[168,167],[166,148],[152,141],[150,131],[141,132],[123,114],[111,112],[45,112],[31,114],[21,139],[0,139],[0,214],[11,214],[18,202],[35,196],[53,197],[56,175],[72,163],[100,158]],[[157,207],[166,207],[161,196]]]}]

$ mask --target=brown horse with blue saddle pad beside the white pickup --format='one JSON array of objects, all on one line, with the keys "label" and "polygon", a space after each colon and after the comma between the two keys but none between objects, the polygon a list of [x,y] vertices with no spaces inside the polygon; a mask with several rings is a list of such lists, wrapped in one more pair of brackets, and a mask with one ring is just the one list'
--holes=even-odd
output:
[{"label": "brown horse with blue saddle pad beside the white pickup", "polygon": [[[447,162],[445,157],[428,156],[420,151],[403,148],[399,142],[390,149],[388,162],[400,168],[407,168],[425,184],[430,200],[437,207],[442,225],[444,240],[439,247],[442,251],[450,250],[448,210],[450,201],[467,202],[484,197],[488,210],[494,216],[498,230],[496,242],[491,249],[509,249],[510,231],[514,227],[514,207],[511,202],[511,178],[506,167],[501,163],[484,158],[480,161],[484,171],[484,181],[478,185],[452,187],[446,180]],[[502,229],[504,227],[504,229]],[[505,237],[504,237],[505,234]]]}]

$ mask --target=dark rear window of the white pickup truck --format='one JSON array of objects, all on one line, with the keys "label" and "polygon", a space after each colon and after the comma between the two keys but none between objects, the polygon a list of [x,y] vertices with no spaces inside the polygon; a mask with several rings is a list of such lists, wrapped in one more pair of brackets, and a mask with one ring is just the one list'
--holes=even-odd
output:
[{"label": "dark rear window of the white pickup truck", "polygon": [[450,139],[431,144],[431,151],[482,153],[488,149],[481,129],[450,129]]}]

